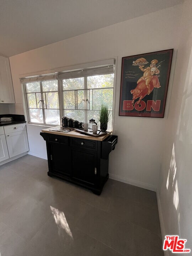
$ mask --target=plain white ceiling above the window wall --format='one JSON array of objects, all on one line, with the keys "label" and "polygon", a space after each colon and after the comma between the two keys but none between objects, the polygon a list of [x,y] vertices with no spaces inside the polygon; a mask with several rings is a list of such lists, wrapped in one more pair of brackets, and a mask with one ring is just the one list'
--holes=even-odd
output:
[{"label": "plain white ceiling above the window wall", "polygon": [[0,54],[10,57],[181,2],[0,0]]}]

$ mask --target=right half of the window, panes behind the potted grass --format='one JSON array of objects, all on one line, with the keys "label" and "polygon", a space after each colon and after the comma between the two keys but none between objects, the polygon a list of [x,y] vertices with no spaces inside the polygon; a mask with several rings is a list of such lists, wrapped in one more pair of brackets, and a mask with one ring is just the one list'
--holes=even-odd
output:
[{"label": "right half of the window, panes behind the potted grass", "polygon": [[[63,79],[63,116],[82,122],[97,120],[102,102],[107,103],[112,112],[113,81],[113,73]],[[110,116],[108,129],[112,127],[112,114]]]}]

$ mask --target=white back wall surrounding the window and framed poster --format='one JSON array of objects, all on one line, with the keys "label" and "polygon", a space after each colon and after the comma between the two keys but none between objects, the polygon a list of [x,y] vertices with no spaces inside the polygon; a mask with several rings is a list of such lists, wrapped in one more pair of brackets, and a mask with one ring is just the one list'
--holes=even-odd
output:
[{"label": "white back wall surrounding the window and framed poster", "polygon": [[[35,74],[36,71],[117,56],[114,134],[118,135],[118,144],[110,155],[109,172],[112,178],[155,190],[161,169],[166,118],[118,116],[121,58],[170,48],[177,49],[180,11],[181,5],[177,5],[11,57],[16,104],[15,109],[11,106],[10,112],[23,114],[18,79],[23,74]],[[168,107],[169,104],[166,111]],[[39,140],[36,138],[36,144],[33,145],[35,136],[31,136],[31,130],[32,128],[28,129],[30,150],[33,147],[35,151],[44,142],[39,139],[37,132]],[[44,152],[43,155],[45,154]]]}]

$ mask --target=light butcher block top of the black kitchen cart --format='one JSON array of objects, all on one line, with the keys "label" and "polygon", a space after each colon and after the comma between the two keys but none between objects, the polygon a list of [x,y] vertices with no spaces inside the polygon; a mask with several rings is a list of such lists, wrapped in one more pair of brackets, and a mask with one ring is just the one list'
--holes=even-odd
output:
[{"label": "light butcher block top of the black kitchen cart", "polygon": [[80,139],[90,139],[90,140],[99,140],[99,141],[105,140],[111,134],[111,132],[110,132],[110,133],[107,133],[105,135],[101,135],[99,137],[94,137],[94,136],[90,136],[90,135],[86,135],[86,134],[80,133],[80,132],[78,132],[76,130],[73,130],[73,131],[68,132],[68,133],[63,133],[63,132],[52,131],[52,130],[49,130],[49,129],[50,128],[43,129],[42,132],[50,133],[50,134],[55,134],[55,135],[68,136],[68,137],[75,137],[75,138],[80,138]]}]

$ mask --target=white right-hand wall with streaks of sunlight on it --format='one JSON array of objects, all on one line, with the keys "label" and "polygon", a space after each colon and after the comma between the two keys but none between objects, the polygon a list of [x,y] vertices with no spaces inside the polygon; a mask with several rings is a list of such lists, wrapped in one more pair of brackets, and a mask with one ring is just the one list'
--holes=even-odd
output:
[{"label": "white right-hand wall with streaks of sunlight on it", "polygon": [[[192,250],[192,2],[183,6],[178,56],[159,178],[162,236],[178,234]],[[179,28],[178,28],[179,29]],[[166,255],[172,255],[169,251]]]}]

